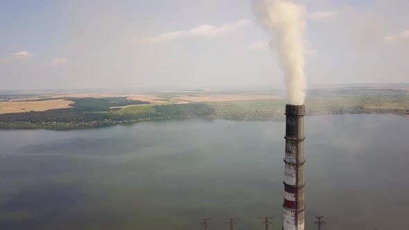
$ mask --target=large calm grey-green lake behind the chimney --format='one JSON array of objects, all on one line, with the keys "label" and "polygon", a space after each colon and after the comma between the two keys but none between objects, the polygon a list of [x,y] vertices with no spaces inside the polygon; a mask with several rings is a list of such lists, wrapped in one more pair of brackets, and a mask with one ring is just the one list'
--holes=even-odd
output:
[{"label": "large calm grey-green lake behind the chimney", "polygon": [[[284,200],[284,123],[0,131],[0,229],[263,229]],[[409,118],[306,117],[306,228],[409,226]]]}]

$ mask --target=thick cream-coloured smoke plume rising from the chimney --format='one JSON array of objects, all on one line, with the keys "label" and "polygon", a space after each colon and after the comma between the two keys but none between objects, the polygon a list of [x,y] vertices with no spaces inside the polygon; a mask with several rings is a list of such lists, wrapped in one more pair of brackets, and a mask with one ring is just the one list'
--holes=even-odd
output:
[{"label": "thick cream-coloured smoke plume rising from the chimney", "polygon": [[253,0],[259,22],[272,32],[279,64],[286,76],[288,104],[304,104],[304,7],[286,0]]}]

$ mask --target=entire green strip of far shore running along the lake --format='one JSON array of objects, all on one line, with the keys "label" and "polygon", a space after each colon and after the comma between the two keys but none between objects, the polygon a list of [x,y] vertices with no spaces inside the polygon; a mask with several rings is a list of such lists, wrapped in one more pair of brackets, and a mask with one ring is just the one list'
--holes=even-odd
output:
[{"label": "entire green strip of far shore running along the lake", "polygon": [[[367,94],[363,95],[363,92]],[[325,114],[398,114],[409,117],[409,95],[391,89],[345,89],[334,95],[333,90],[312,91],[306,99],[306,115]],[[204,94],[204,92],[200,92]],[[317,96],[320,95],[320,96]],[[324,95],[324,96],[323,96]],[[172,101],[174,95],[163,96]],[[180,118],[226,119],[234,121],[285,121],[284,99],[237,100],[212,103],[153,105],[140,100],[116,98],[65,98],[73,100],[72,108],[44,112],[0,114],[3,128],[79,128],[101,127],[139,121]],[[37,100],[50,100],[41,98]],[[128,106],[129,105],[129,106]],[[111,107],[122,107],[112,108]]]}]

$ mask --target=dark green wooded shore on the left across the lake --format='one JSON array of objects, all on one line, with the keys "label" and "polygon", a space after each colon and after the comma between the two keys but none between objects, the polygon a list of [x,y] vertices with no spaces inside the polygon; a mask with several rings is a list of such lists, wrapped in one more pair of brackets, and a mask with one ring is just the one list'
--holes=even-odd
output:
[{"label": "dark green wooded shore on the left across the lake", "polygon": [[120,110],[110,110],[109,107],[107,107],[107,102],[104,100],[85,98],[85,100],[78,101],[80,101],[80,103],[77,107],[73,108],[50,109],[44,112],[32,111],[0,114],[0,127],[51,129],[105,127],[116,124],[136,123],[139,121],[211,118],[211,116],[214,115],[214,109],[204,103],[136,105]]}]

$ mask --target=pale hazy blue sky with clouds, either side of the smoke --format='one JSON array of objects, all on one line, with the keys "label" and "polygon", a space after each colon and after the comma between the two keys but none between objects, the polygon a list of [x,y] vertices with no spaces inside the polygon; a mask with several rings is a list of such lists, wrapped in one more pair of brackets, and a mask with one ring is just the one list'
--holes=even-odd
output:
[{"label": "pale hazy blue sky with clouds, either side of the smoke", "polygon": [[[296,2],[308,10],[309,85],[409,82],[408,1]],[[250,5],[0,1],[0,88],[281,86]]]}]

